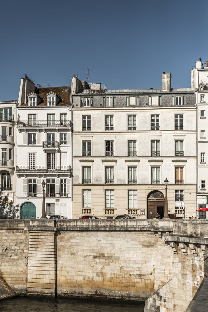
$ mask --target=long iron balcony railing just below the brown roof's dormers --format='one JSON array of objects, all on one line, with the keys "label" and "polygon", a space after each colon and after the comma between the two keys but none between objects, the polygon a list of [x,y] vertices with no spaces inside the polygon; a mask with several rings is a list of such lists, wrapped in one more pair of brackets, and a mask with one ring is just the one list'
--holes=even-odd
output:
[{"label": "long iron balcony railing just below the brown roof's dormers", "polygon": [[57,128],[57,127],[72,127],[72,122],[70,120],[60,121],[60,120],[36,120],[27,121],[22,120],[17,122],[17,127],[22,128]]}]

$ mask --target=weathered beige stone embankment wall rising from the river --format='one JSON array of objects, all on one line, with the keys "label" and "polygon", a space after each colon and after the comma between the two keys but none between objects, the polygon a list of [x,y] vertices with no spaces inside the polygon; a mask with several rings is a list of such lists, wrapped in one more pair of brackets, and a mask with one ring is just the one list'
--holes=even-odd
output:
[{"label": "weathered beige stone embankment wall rising from the river", "polygon": [[206,220],[0,220],[0,276],[18,294],[147,299],[186,311],[204,278]]}]

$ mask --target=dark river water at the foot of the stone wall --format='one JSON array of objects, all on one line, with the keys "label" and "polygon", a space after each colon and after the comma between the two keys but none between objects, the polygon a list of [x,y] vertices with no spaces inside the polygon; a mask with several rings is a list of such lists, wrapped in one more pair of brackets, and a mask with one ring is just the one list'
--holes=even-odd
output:
[{"label": "dark river water at the foot of the stone wall", "polygon": [[18,297],[0,301],[0,312],[143,312],[143,301],[37,299]]}]

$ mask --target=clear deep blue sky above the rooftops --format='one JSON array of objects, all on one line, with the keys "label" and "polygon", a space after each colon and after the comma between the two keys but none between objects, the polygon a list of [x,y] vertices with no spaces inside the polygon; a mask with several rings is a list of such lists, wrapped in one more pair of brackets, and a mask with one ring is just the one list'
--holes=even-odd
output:
[{"label": "clear deep blue sky above the rooftops", "polygon": [[189,87],[208,60],[206,0],[7,0],[0,29],[0,101],[18,98],[24,74],[64,86],[86,67],[108,89],[161,88],[163,71]]}]

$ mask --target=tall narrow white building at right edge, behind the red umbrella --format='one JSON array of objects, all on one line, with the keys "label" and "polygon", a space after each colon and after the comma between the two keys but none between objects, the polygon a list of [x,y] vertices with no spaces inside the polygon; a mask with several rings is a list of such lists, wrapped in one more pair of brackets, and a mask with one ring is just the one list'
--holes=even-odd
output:
[{"label": "tall narrow white building at right edge, behind the red umbrella", "polygon": [[[197,110],[197,208],[207,208],[208,204],[208,61],[203,65],[201,58],[196,68],[191,70],[191,88],[196,91]],[[207,213],[199,212],[204,219]]]}]

